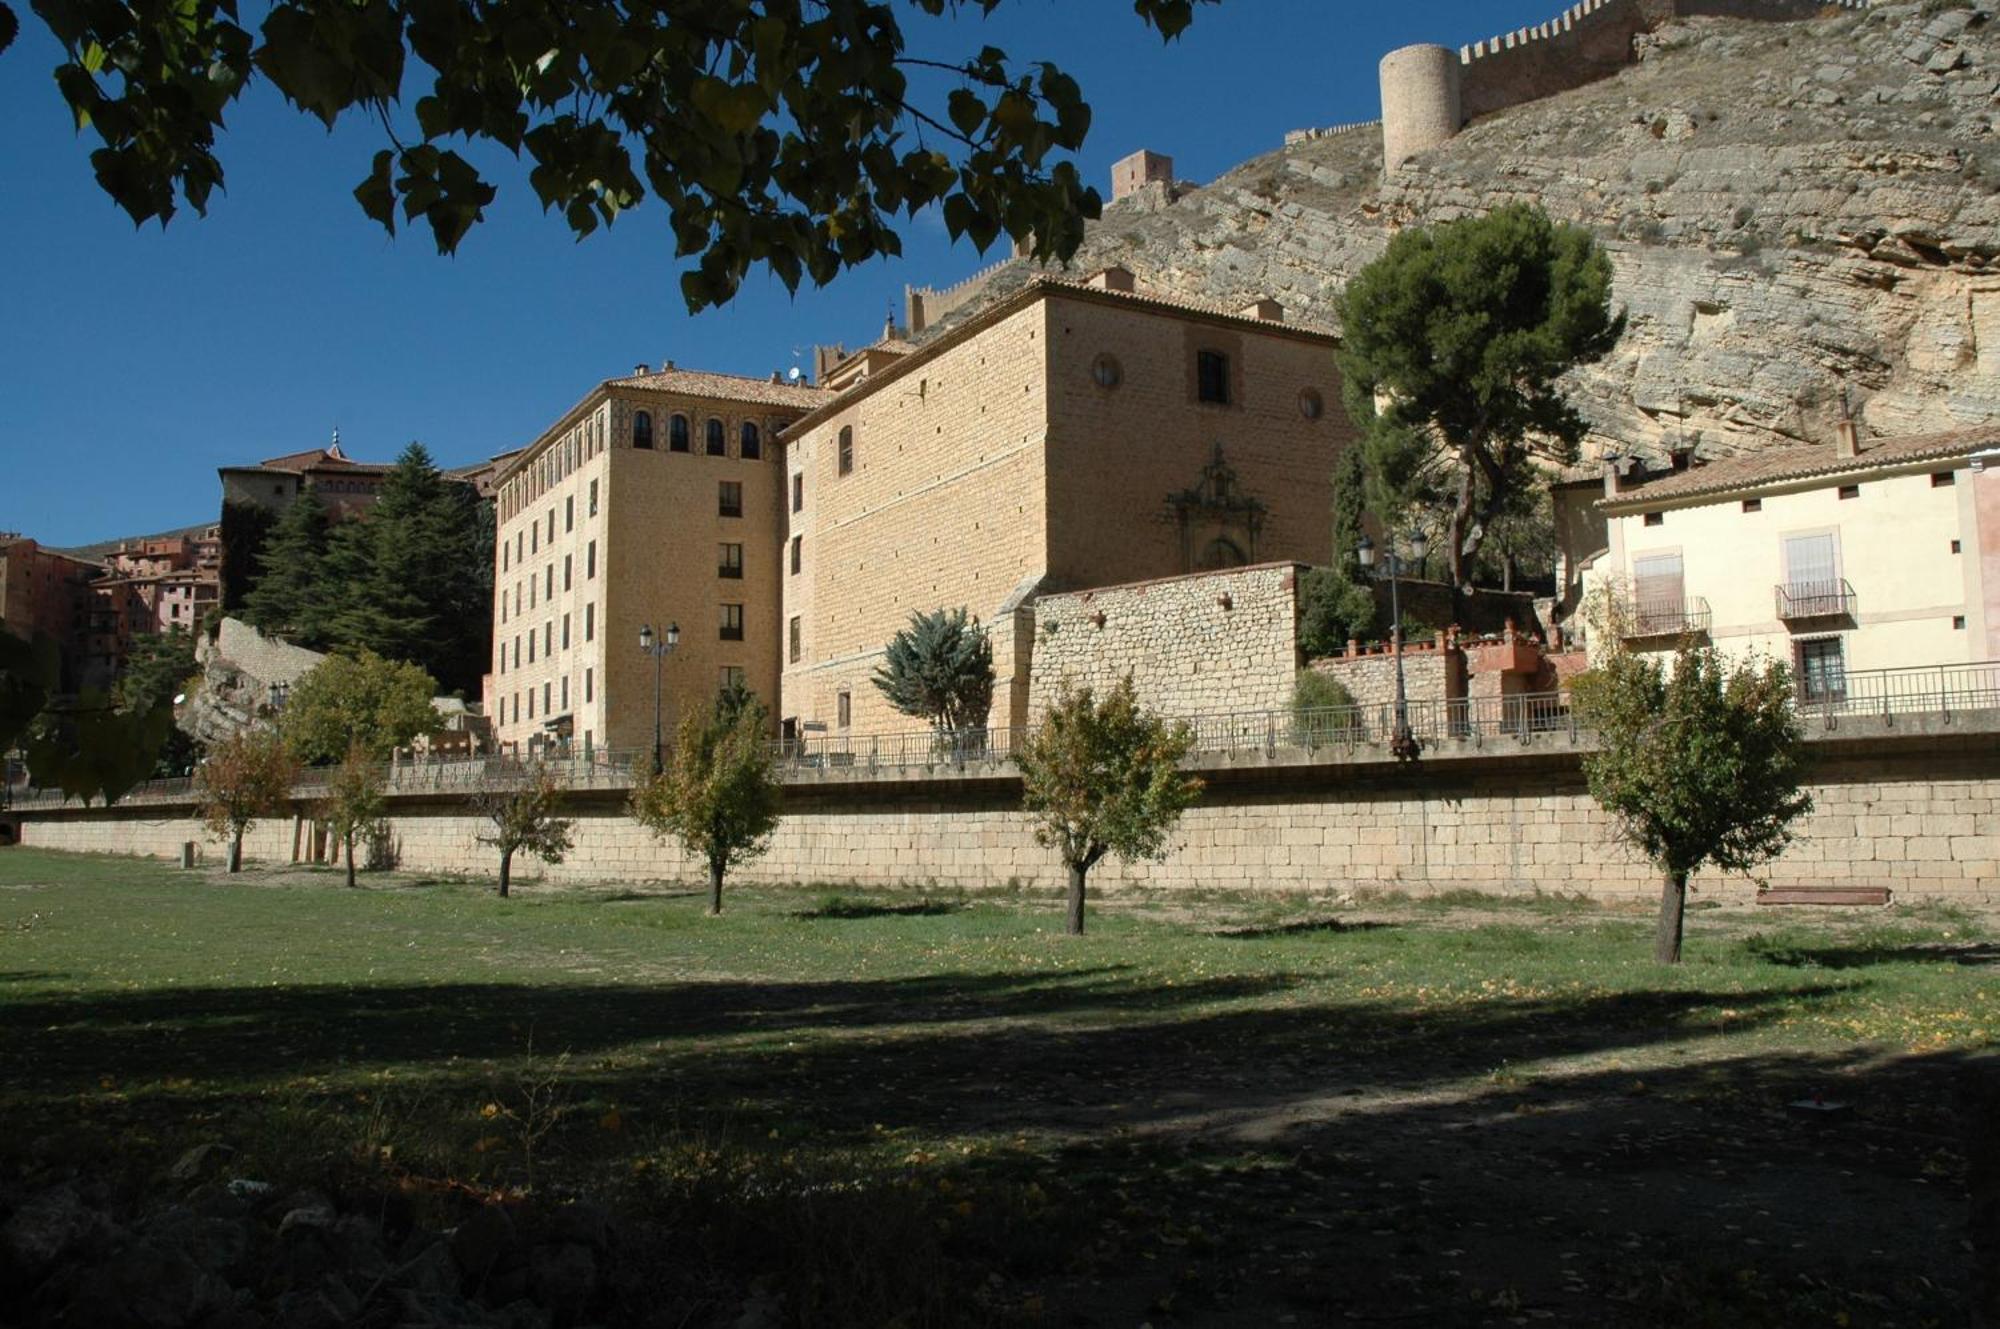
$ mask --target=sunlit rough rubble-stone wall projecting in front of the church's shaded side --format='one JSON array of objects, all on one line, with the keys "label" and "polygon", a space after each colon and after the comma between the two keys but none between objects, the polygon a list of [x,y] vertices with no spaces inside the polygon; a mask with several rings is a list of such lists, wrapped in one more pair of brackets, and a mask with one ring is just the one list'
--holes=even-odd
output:
[{"label": "sunlit rough rubble-stone wall projecting in front of the church's shaded side", "polygon": [[1274,562],[1042,596],[1030,717],[1048,711],[1064,679],[1104,693],[1126,675],[1144,705],[1168,715],[1288,705],[1298,570]]}]

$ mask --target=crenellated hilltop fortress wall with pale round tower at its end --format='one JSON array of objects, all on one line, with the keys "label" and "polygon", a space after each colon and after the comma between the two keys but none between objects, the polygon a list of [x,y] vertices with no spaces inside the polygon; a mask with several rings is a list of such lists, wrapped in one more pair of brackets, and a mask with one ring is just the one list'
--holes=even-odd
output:
[{"label": "crenellated hilltop fortress wall with pale round tower at its end", "polygon": [[1796,22],[1830,8],[1866,10],[1868,0],[1580,0],[1544,24],[1456,52],[1392,50],[1380,68],[1384,168],[1396,170],[1480,116],[1610,78],[1632,64],[1632,38],[1672,18]]}]

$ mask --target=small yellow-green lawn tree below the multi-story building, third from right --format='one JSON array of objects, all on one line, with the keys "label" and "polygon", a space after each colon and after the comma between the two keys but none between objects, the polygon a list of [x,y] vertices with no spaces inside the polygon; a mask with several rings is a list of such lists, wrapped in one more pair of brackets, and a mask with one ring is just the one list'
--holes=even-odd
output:
[{"label": "small yellow-green lawn tree below the multi-story building, third from right", "polygon": [[778,773],[764,739],[762,703],[722,697],[708,717],[690,715],[674,759],[632,791],[632,817],[708,861],[708,913],[722,913],[730,867],[770,849],[778,827]]}]

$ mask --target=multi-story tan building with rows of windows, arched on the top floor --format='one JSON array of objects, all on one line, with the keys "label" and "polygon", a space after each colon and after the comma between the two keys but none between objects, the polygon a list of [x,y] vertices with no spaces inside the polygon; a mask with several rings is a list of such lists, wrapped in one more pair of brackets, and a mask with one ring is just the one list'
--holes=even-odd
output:
[{"label": "multi-story tan building with rows of windows, arched on the top floor", "polygon": [[664,364],[600,382],[494,480],[494,658],[502,745],[652,745],[740,681],[778,697],[784,458],[778,430],[828,392]]}]

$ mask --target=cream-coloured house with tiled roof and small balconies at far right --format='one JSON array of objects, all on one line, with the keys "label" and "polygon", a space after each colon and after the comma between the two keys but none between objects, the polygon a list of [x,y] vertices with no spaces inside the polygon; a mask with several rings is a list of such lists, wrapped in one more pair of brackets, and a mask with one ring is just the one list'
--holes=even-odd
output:
[{"label": "cream-coloured house with tiled roof and small balconies at far right", "polygon": [[1694,632],[1790,662],[1806,701],[1850,671],[2000,658],[2000,428],[1612,462],[1596,512],[1576,558],[1592,650]]}]

